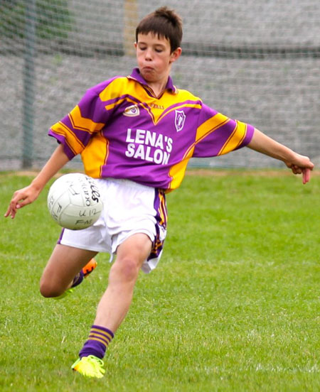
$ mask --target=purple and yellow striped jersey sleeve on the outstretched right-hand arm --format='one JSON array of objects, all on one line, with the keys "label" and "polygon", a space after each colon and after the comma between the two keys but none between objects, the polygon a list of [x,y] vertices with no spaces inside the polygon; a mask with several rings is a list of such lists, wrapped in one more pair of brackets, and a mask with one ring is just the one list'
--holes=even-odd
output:
[{"label": "purple and yellow striped jersey sleeve on the outstretched right-hand arm", "polygon": [[196,130],[193,157],[220,156],[247,146],[254,130],[252,125],[230,119],[203,104]]}]

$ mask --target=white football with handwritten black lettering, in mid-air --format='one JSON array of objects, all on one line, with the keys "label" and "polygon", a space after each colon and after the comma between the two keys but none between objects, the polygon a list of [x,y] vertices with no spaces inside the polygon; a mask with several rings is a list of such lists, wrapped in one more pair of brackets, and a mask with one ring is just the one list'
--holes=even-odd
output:
[{"label": "white football with handwritten black lettering, in mid-air", "polygon": [[82,173],[62,175],[48,192],[48,209],[61,227],[81,230],[92,226],[103,209],[95,180]]}]

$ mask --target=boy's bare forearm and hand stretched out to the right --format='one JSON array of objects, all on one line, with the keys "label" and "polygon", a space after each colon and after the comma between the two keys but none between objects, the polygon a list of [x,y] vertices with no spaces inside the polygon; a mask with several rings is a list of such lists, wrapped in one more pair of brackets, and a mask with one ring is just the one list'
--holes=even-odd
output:
[{"label": "boy's bare forearm and hand stretched out to the right", "polygon": [[274,141],[269,136],[262,134],[258,129],[252,136],[252,139],[247,147],[252,148],[259,153],[263,153],[272,158],[282,160],[294,174],[302,173],[302,182],[308,183],[310,180],[310,170],[314,168],[314,164],[307,156],[302,156],[295,153],[290,148],[284,146],[277,141]]}]

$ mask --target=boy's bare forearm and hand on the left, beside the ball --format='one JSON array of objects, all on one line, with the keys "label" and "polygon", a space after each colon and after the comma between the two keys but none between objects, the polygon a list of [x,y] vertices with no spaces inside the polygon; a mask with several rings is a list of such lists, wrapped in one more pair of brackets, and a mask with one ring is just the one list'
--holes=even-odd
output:
[{"label": "boy's bare forearm and hand on the left, beside the ball", "polygon": [[46,165],[43,166],[43,169],[38,173],[31,184],[14,192],[14,196],[11,199],[4,217],[9,217],[10,215],[11,218],[14,219],[18,209],[36,200],[46,183],[48,183],[48,181],[53,178],[53,175],[58,173],[68,161],[69,158],[63,151],[63,144],[59,144]]}]

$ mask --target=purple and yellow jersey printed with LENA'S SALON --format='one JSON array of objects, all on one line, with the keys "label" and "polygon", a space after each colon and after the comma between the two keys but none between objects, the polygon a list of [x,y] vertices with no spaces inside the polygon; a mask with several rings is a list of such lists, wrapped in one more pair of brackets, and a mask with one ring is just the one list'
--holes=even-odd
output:
[{"label": "purple and yellow jersey printed with LENA'S SALON", "polygon": [[136,68],[88,89],[49,131],[72,159],[81,154],[93,178],[126,178],[176,189],[192,157],[220,156],[246,146],[254,128],[229,119],[171,78],[156,98]]}]

